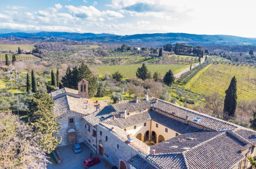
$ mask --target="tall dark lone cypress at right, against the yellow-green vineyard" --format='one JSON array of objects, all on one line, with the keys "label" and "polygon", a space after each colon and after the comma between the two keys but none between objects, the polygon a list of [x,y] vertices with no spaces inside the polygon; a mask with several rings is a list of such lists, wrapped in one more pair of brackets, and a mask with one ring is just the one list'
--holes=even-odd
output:
[{"label": "tall dark lone cypress at right, against the yellow-green vineyard", "polygon": [[224,118],[227,120],[230,117],[234,117],[235,109],[237,108],[237,79],[235,79],[235,76],[231,79],[230,85],[225,93],[223,113]]}]

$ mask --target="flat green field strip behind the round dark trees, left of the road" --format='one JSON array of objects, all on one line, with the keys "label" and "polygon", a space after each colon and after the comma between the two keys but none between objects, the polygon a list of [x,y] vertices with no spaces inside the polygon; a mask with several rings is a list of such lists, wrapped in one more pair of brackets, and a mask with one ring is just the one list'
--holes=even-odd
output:
[{"label": "flat green field strip behind the round dark trees, left of the road", "polygon": [[[100,75],[106,73],[113,74],[115,71],[122,73],[125,78],[130,78],[136,76],[137,69],[141,65],[128,65],[128,66],[99,66],[99,67],[90,67],[90,69],[96,69]],[[149,72],[153,75],[154,72],[159,72],[165,74],[168,70],[172,70],[173,73],[179,73],[185,68],[188,68],[189,65],[147,65]]]}]

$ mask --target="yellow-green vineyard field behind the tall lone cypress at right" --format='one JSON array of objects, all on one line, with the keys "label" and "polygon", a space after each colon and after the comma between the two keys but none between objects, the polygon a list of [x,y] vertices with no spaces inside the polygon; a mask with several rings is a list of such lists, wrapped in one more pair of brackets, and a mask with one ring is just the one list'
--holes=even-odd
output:
[{"label": "yellow-green vineyard field behind the tall lone cypress at right", "polygon": [[256,68],[210,64],[196,74],[185,86],[196,93],[219,92],[225,96],[231,78],[237,78],[238,99],[256,99]]}]

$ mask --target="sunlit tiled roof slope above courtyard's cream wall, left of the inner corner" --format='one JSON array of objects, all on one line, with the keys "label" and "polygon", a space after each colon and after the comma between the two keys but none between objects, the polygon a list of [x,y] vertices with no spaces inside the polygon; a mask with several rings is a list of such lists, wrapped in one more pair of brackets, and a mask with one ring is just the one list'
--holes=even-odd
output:
[{"label": "sunlit tiled roof slope above courtyard's cream wall, left of the inner corner", "polygon": [[104,121],[106,124],[118,126],[119,128],[123,129],[127,126],[135,125],[144,121],[150,120],[149,111],[143,111],[141,113],[136,113],[133,115],[129,115],[126,118],[116,118],[116,119],[109,119]]}]

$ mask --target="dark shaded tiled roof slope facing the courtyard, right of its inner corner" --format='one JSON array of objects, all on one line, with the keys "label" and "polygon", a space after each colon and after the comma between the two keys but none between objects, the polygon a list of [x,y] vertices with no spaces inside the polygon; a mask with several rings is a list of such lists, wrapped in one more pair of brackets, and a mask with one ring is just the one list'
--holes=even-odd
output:
[{"label": "dark shaded tiled roof slope facing the courtyard, right of its inner corner", "polygon": [[193,125],[186,125],[184,122],[181,122],[179,120],[173,119],[171,117],[167,117],[161,113],[158,113],[156,111],[150,112],[151,119],[154,120],[157,123],[160,123],[167,128],[170,128],[178,133],[184,134],[189,132],[197,132],[201,129],[197,128]]}]

